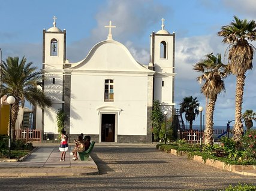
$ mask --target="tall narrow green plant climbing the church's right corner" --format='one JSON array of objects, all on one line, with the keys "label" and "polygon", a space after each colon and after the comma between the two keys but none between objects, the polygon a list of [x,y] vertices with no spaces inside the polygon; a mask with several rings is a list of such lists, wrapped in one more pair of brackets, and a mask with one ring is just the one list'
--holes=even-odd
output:
[{"label": "tall narrow green plant climbing the church's right corner", "polygon": [[164,121],[164,115],[162,114],[160,103],[158,100],[153,101],[153,109],[150,116],[152,122],[152,133],[155,141],[159,140],[159,133],[161,130],[162,122]]}]

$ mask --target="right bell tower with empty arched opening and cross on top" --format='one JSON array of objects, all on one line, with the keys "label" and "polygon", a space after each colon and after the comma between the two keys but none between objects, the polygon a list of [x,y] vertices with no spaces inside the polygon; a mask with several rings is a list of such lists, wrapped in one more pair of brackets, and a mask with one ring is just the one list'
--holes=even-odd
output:
[{"label": "right bell tower with empty arched opening and cross on top", "polygon": [[150,63],[155,70],[153,82],[153,100],[159,100],[162,110],[174,109],[174,46],[175,33],[164,29],[150,35]]}]

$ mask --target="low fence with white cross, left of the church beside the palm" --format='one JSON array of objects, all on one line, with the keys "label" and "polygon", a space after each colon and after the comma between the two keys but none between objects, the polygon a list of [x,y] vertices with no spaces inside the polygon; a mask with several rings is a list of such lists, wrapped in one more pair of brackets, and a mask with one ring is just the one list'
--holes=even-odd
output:
[{"label": "low fence with white cross, left of the church beside the palm", "polygon": [[22,130],[15,130],[16,138],[22,138],[26,141],[41,142],[41,131],[31,130],[29,128],[24,128]]}]

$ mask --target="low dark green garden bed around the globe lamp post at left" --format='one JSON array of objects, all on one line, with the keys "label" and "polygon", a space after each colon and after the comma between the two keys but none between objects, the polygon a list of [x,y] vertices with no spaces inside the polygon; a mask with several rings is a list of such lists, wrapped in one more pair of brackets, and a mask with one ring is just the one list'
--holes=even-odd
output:
[{"label": "low dark green garden bed around the globe lamp post at left", "polygon": [[[9,159],[9,147],[8,147],[9,137],[7,135],[0,136],[0,159]],[[11,155],[10,159],[20,159],[33,150],[34,147],[32,143],[27,143],[24,139],[17,139],[11,141]]]}]

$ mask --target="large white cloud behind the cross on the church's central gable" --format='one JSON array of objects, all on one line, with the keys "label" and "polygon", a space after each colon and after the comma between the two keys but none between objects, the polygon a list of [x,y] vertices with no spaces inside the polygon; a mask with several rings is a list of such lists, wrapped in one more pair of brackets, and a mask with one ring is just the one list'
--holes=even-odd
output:
[{"label": "large white cloud behind the cross on the church's central gable", "polygon": [[[113,29],[113,38],[118,41],[129,38],[141,38],[145,33],[149,33],[148,28],[159,22],[161,17],[167,13],[167,7],[164,7],[152,0],[140,1],[108,1],[106,7],[96,14],[97,27],[92,30],[92,35],[107,38],[108,30],[103,26],[112,24],[116,26]],[[160,26],[160,25],[159,25]]]}]

